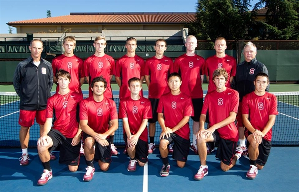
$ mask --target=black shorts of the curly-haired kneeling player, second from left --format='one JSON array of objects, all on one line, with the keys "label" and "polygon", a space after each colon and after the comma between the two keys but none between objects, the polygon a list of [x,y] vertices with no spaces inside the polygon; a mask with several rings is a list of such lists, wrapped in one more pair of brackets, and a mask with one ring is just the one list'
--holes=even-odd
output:
[{"label": "black shorts of the curly-haired kneeling player, second from left", "polygon": [[[85,141],[86,138],[88,137],[92,137],[84,132],[82,132],[83,135],[83,139]],[[102,146],[100,143],[98,143],[97,141],[95,141],[95,156],[94,159],[96,161],[101,161],[103,163],[111,163],[111,142],[110,139],[106,138],[106,140],[109,142],[108,146]]]}]

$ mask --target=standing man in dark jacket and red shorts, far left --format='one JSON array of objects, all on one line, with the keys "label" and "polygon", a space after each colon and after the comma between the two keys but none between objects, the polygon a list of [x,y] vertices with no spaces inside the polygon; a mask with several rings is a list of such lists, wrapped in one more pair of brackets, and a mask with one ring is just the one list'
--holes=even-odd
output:
[{"label": "standing man in dark jacket and red shorts, far left", "polygon": [[34,39],[30,42],[29,50],[31,55],[21,61],[14,72],[13,87],[20,96],[20,115],[18,123],[21,125],[19,140],[22,148],[20,165],[25,166],[29,163],[28,142],[29,129],[34,123],[34,118],[43,128],[45,122],[45,109],[47,99],[53,85],[52,65],[41,58],[43,43],[41,40]]}]

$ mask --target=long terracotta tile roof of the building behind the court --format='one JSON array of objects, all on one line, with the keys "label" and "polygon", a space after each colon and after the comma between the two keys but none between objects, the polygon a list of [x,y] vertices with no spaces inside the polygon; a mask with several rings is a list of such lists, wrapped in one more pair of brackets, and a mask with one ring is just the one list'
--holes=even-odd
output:
[{"label": "long terracotta tile roof of the building behind the court", "polygon": [[195,20],[191,13],[71,13],[70,15],[8,22],[18,24],[118,24],[118,23],[189,23]]}]

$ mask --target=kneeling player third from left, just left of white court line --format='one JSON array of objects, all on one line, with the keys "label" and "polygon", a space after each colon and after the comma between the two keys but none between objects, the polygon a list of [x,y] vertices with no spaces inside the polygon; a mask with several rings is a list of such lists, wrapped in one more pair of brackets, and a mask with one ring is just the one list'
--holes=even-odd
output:
[{"label": "kneeling player third from left, just left of white court line", "polygon": [[148,98],[140,96],[142,82],[139,78],[128,81],[130,96],[121,100],[119,118],[123,119],[124,140],[128,147],[129,172],[136,171],[136,164],[143,167],[148,161],[148,119],[152,118]]}]

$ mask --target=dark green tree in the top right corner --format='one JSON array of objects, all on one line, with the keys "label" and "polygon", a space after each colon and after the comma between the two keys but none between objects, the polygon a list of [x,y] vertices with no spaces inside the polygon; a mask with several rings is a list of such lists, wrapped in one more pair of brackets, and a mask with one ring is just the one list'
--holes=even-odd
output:
[{"label": "dark green tree in the top right corner", "polygon": [[260,0],[254,12],[265,5],[266,18],[257,22],[259,39],[299,39],[298,0]]}]

